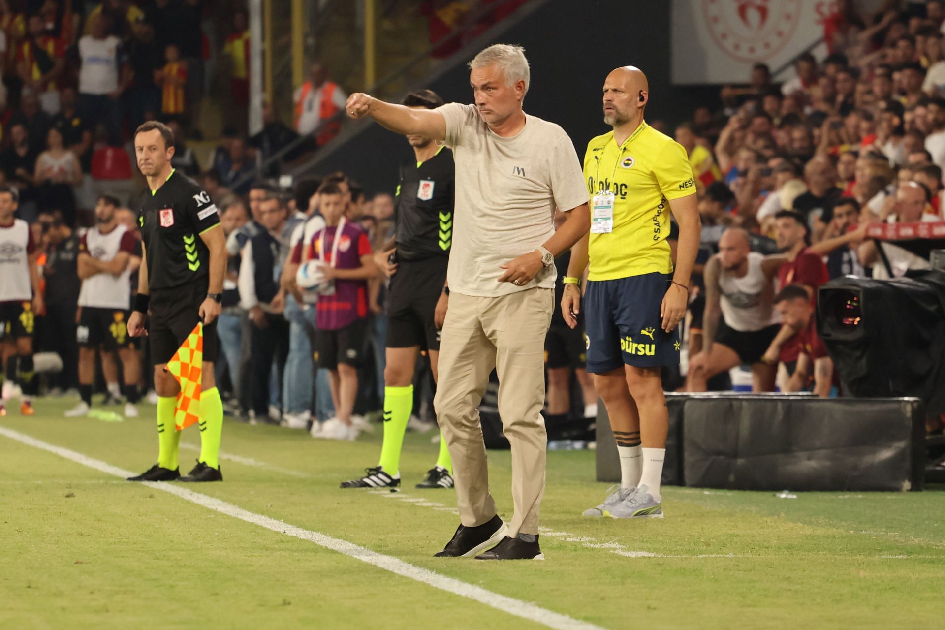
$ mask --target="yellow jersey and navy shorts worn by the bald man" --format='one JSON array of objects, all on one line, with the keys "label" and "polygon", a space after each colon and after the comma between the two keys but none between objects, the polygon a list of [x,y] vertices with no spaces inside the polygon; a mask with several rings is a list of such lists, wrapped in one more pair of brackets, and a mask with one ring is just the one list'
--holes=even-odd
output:
[{"label": "yellow jersey and navy shorts worn by the bald man", "polygon": [[610,231],[592,218],[587,370],[678,365],[679,331],[662,330],[660,307],[673,273],[669,200],[696,191],[686,150],[644,122],[620,146],[613,131],[593,138],[584,177],[592,208],[613,197]]}]

